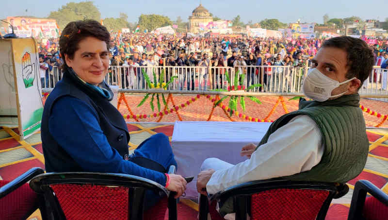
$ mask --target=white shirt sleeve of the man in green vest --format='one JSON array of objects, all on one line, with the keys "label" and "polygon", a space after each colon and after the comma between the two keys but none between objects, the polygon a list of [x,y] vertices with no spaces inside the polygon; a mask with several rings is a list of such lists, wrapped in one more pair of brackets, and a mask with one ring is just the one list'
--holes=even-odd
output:
[{"label": "white shirt sleeve of the man in green vest", "polygon": [[[308,171],[321,161],[323,150],[322,135],[314,120],[306,115],[296,116],[272,133],[268,142],[261,145],[251,155],[251,159],[216,170],[206,190],[209,194],[215,194],[249,181]],[[213,168],[206,161],[201,169]]]}]

